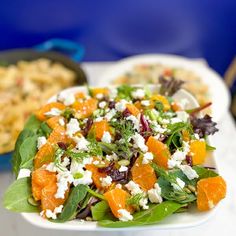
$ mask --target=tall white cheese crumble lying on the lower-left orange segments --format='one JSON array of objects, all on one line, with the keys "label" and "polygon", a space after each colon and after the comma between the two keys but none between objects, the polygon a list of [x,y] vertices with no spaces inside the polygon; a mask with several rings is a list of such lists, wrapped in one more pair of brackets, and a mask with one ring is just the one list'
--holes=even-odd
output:
[{"label": "tall white cheese crumble lying on the lower-left orange segments", "polygon": [[68,185],[73,181],[73,175],[69,171],[59,172],[57,174],[57,192],[55,194],[55,198],[64,199]]}]

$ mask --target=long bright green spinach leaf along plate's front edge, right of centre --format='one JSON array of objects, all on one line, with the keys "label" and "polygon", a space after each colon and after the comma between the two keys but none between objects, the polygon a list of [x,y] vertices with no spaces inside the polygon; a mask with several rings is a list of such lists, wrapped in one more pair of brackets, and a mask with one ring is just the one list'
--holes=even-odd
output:
[{"label": "long bright green spinach leaf along plate's front edge, right of centre", "polygon": [[155,224],[176,212],[182,205],[172,201],[165,201],[161,204],[151,204],[148,210],[137,212],[133,215],[132,221],[102,220],[98,224],[103,227],[130,227]]}]

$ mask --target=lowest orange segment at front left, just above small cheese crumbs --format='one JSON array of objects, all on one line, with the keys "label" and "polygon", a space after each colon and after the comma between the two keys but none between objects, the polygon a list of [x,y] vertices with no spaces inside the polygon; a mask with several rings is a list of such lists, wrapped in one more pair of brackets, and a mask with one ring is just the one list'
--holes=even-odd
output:
[{"label": "lowest orange segment at front left, just above small cheese crumbs", "polygon": [[55,194],[57,192],[57,183],[56,182],[50,182],[50,184],[46,185],[42,189],[42,195],[41,195],[41,208],[42,210],[51,210],[53,211],[56,207],[63,205],[68,197],[69,188],[67,189],[65,193],[65,197],[62,198],[56,198]]}]

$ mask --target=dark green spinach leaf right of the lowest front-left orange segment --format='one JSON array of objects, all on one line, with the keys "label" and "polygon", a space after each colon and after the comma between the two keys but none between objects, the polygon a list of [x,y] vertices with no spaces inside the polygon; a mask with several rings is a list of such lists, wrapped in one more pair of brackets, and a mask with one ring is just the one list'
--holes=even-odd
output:
[{"label": "dark green spinach leaf right of the lowest front-left orange segment", "polygon": [[70,193],[68,200],[66,201],[62,213],[56,220],[53,220],[53,222],[60,223],[72,220],[76,216],[78,204],[86,197],[86,194],[87,186],[77,185],[76,187],[74,187]]}]

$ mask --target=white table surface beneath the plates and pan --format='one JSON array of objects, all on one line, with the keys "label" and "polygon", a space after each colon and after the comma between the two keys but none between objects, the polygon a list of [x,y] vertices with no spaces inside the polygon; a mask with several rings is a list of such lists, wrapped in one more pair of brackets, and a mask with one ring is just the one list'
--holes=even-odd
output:
[{"label": "white table surface beneath the plates and pan", "polygon": [[[111,63],[85,63],[83,68],[89,76],[91,85],[96,85],[99,75]],[[213,136],[213,145],[217,147],[216,157],[220,173],[227,182],[227,197],[220,205],[216,214],[206,223],[194,228],[165,231],[141,231],[129,233],[94,233],[76,231],[45,230],[30,225],[19,214],[8,212],[0,205],[0,236],[65,236],[65,235],[159,235],[159,236],[209,236],[209,235],[234,235],[236,234],[236,128],[231,115],[225,114],[219,122],[220,131]],[[9,172],[0,172],[0,198],[12,181]]]}]

